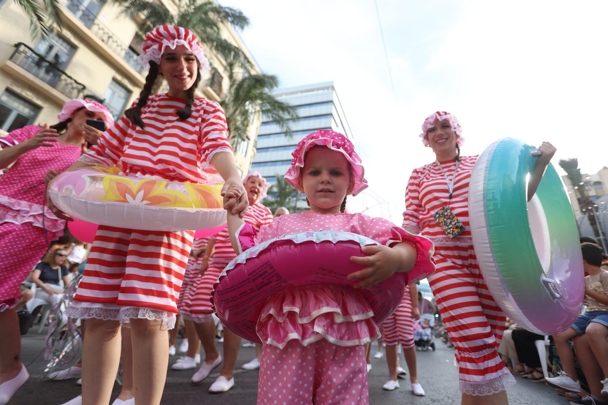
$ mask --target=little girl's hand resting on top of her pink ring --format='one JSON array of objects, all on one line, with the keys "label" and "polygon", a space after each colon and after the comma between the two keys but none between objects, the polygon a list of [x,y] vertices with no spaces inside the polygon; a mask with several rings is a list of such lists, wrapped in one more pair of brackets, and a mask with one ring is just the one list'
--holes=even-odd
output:
[{"label": "little girl's hand resting on top of her pink ring", "polygon": [[363,288],[376,285],[388,279],[401,264],[401,255],[389,246],[373,245],[361,247],[361,252],[371,254],[371,256],[361,257],[352,256],[354,263],[365,265],[366,268],[351,273],[347,276],[348,280],[364,279],[354,285],[354,288]]}]

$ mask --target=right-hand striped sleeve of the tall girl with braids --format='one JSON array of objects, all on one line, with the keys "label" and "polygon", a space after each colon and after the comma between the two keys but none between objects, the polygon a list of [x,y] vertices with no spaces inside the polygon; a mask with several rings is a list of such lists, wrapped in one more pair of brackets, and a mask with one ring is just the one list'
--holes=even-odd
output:
[{"label": "right-hand striped sleeve of the tall girl with braids", "polygon": [[207,100],[202,116],[199,153],[203,162],[211,163],[218,152],[232,153],[226,116],[218,103]]}]

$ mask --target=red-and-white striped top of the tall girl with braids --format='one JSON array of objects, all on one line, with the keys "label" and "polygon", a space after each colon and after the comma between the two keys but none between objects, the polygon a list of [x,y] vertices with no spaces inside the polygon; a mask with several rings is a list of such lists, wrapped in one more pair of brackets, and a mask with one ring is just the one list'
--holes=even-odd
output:
[{"label": "red-and-white striped top of the tall girl with braids", "polygon": [[192,114],[181,120],[175,110],[184,105],[185,100],[178,97],[151,95],[141,110],[145,128],[123,116],[81,160],[117,165],[125,175],[206,182],[203,168],[212,157],[218,152],[232,153],[226,117],[218,103],[195,99]]}]

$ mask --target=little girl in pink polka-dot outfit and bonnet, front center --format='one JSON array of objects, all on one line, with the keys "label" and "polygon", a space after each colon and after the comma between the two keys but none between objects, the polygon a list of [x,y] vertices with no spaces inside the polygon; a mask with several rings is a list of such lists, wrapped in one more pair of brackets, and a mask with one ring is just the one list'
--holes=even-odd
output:
[{"label": "little girl in pink polka-dot outfit and bonnet, front center", "polygon": [[367,187],[361,159],[344,135],[315,131],[299,142],[292,156],[285,180],[306,194],[311,210],[274,218],[255,235],[240,216],[230,215],[240,195],[230,189],[224,201],[235,250],[307,230],[352,232],[382,246],[363,247],[370,256],[351,258],[367,266],[348,275],[359,280],[355,288],[310,285],[266,300],[256,325],[264,345],[258,404],[367,404],[365,344],[379,338],[379,331],[357,288],[375,285],[394,272],[407,272],[410,283],[427,277],[435,271],[434,246],[383,218],[344,212],[346,196]]}]

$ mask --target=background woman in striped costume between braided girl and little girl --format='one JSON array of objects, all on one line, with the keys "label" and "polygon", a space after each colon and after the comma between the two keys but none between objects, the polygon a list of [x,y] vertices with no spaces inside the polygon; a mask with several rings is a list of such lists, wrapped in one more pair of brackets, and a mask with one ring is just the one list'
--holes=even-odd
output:
[{"label": "background woman in striped costume between braided girl and little girl", "polygon": [[[260,199],[266,196],[269,184],[257,172],[249,173],[243,180],[243,184],[249,200],[249,209],[243,219],[256,230],[260,230],[260,227],[272,222],[271,210],[260,203]],[[211,291],[224,267],[233,258],[237,257],[230,243],[228,228],[219,232],[215,237],[215,242],[211,242],[211,244],[213,244],[213,247],[207,247],[207,253],[203,257],[201,267],[201,271],[205,268],[206,271],[192,299],[187,302],[187,305],[190,306],[190,315],[184,315],[184,319],[191,319],[196,322],[196,331],[198,331],[198,336],[201,338],[205,350],[205,361],[198,372],[192,376],[192,383],[200,383],[206,379],[209,373],[222,362],[222,357],[215,347],[215,322],[212,319]],[[213,253],[210,249],[213,249]],[[209,255],[211,255],[210,258]],[[209,258],[209,263],[206,263],[206,258]],[[241,338],[228,328],[224,328],[224,364],[219,377],[209,387],[209,392],[226,392],[234,386],[233,369],[237,362],[240,345]]]}]

